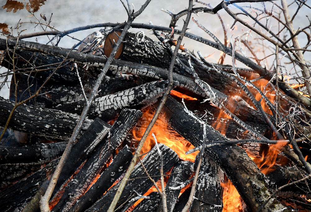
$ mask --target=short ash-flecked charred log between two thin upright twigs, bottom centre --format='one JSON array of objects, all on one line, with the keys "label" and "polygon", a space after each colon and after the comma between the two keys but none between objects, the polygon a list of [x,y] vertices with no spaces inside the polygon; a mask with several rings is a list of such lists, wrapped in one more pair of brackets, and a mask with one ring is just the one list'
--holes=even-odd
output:
[{"label": "short ash-flecked charred log between two thin upright twigs, bottom centre", "polygon": [[[167,211],[172,212],[175,204],[178,200],[178,196],[181,189],[172,190],[170,187],[177,187],[184,181],[186,181],[190,175],[193,173],[191,171],[191,166],[193,163],[190,161],[180,161],[172,169],[169,179],[165,185],[165,194],[166,194],[166,206]],[[138,205],[137,205],[138,206]],[[163,211],[162,199],[160,198],[160,204],[156,211]]]}]

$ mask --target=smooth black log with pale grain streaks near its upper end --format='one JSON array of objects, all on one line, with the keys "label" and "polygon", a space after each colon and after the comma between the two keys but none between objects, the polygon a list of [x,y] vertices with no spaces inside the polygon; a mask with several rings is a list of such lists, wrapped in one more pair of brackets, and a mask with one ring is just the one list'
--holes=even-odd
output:
[{"label": "smooth black log with pale grain streaks near its upper end", "polygon": [[100,142],[104,142],[105,136],[109,133],[110,128],[111,126],[109,124],[100,119],[95,119],[92,122],[76,145],[72,147],[62,172],[58,177],[58,181],[54,188],[54,195],[86,160],[87,156],[89,156],[95,147],[97,147]]}]

